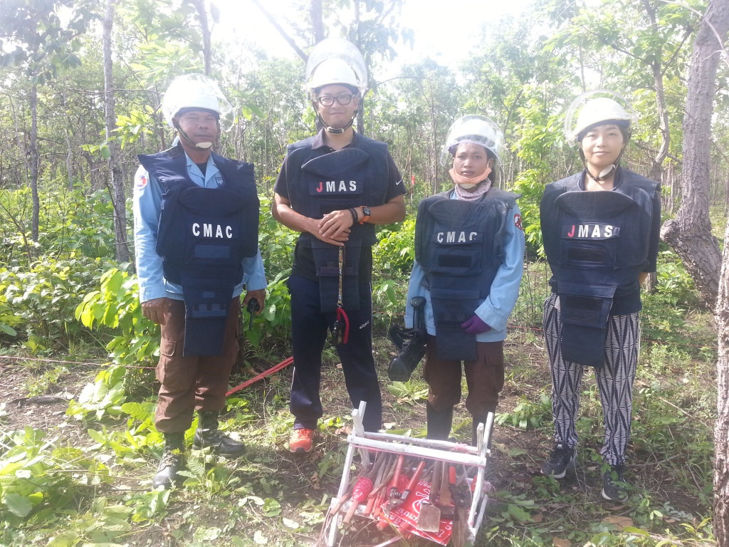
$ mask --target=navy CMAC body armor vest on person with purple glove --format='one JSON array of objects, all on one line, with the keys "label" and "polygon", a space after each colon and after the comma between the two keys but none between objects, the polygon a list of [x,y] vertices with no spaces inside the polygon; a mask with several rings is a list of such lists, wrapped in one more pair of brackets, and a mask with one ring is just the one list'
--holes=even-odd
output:
[{"label": "navy CMAC body armor vest on person with purple glove", "polygon": [[491,292],[504,262],[504,229],[518,195],[491,188],[480,201],[450,199],[452,190],[418,205],[416,260],[430,291],[438,357],[476,359],[476,335],[461,323]]}]

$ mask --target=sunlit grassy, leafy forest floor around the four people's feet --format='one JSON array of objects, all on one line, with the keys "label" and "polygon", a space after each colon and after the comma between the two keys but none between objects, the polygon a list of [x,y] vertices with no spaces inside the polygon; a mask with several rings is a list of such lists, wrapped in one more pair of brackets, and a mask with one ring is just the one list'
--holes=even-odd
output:
[{"label": "sunlit grassy, leafy forest floor around the four people's feet", "polygon": [[[507,380],[488,474],[494,492],[477,547],[564,546],[566,541],[708,546],[716,412],[709,315],[664,297],[647,298],[650,310],[643,319],[644,325],[652,322],[652,336],[644,337],[636,376],[626,474],[633,488],[625,504],[604,503],[599,497],[602,414],[590,372],[577,421],[580,465],[564,481],[538,473],[552,443],[550,376],[537,330],[546,292],[543,268],[530,268],[525,301],[511,320],[515,327],[505,346]],[[382,324],[375,331],[386,428],[424,435],[427,386],[421,373],[407,384],[391,384],[385,371],[392,347]],[[246,348],[244,355],[233,385],[283,360],[286,346],[270,340],[262,349]],[[103,360],[100,354],[97,362]],[[46,408],[20,414],[15,406],[0,406],[0,546],[314,545],[343,473],[351,426],[336,352],[327,349],[324,360],[324,419],[315,453],[299,458],[285,449],[293,424],[287,368],[228,400],[221,427],[246,443],[246,457],[227,461],[195,453],[186,484],[173,492],[149,490],[162,447],[153,426],[152,371],[104,368],[93,379],[82,365],[6,361],[3,381],[15,382],[16,392],[69,389],[75,403],[74,416],[55,416],[50,423]],[[87,382],[93,387],[81,397]],[[115,388],[119,382],[121,391]],[[453,432],[463,441],[470,436],[463,403],[456,407]],[[192,430],[187,436],[190,441]],[[358,517],[353,522],[343,531],[342,545],[373,546],[390,533],[381,535]]]}]

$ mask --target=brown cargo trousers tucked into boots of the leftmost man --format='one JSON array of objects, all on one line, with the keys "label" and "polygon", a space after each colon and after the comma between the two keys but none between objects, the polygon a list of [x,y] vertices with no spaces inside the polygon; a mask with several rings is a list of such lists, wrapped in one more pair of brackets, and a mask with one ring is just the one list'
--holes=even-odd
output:
[{"label": "brown cargo trousers tucked into boots of the leftmost man", "polygon": [[241,298],[230,301],[223,352],[220,355],[183,357],[184,301],[168,299],[165,324],[160,325],[160,360],[157,363],[155,426],[164,433],[187,430],[195,410],[216,411],[225,408],[230,371],[238,357]]}]

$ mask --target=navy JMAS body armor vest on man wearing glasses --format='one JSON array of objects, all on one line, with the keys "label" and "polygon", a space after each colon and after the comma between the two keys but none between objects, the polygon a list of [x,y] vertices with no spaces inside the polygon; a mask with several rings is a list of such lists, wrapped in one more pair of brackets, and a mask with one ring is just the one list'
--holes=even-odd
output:
[{"label": "navy JMAS body armor vest on man wearing glasses", "polygon": [[[292,209],[305,217],[352,207],[378,206],[387,195],[387,145],[356,136],[356,147],[320,155],[311,149],[315,137],[289,145],[286,163]],[[343,307],[359,309],[359,260],[362,247],[377,243],[375,226],[365,222],[351,227],[344,248]],[[311,247],[319,279],[322,312],[335,311],[339,292],[339,247],[302,233],[299,244]]]}]

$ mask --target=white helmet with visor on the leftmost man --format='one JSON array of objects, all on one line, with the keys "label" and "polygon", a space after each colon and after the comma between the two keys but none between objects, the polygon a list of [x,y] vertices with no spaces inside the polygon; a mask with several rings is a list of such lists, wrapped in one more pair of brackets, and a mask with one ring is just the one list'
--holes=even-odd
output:
[{"label": "white helmet with visor on the leftmost man", "polygon": [[214,79],[205,74],[184,74],[175,78],[162,98],[162,113],[170,127],[172,118],[184,108],[206,109],[219,117],[230,117],[233,106],[227,101]]}]

